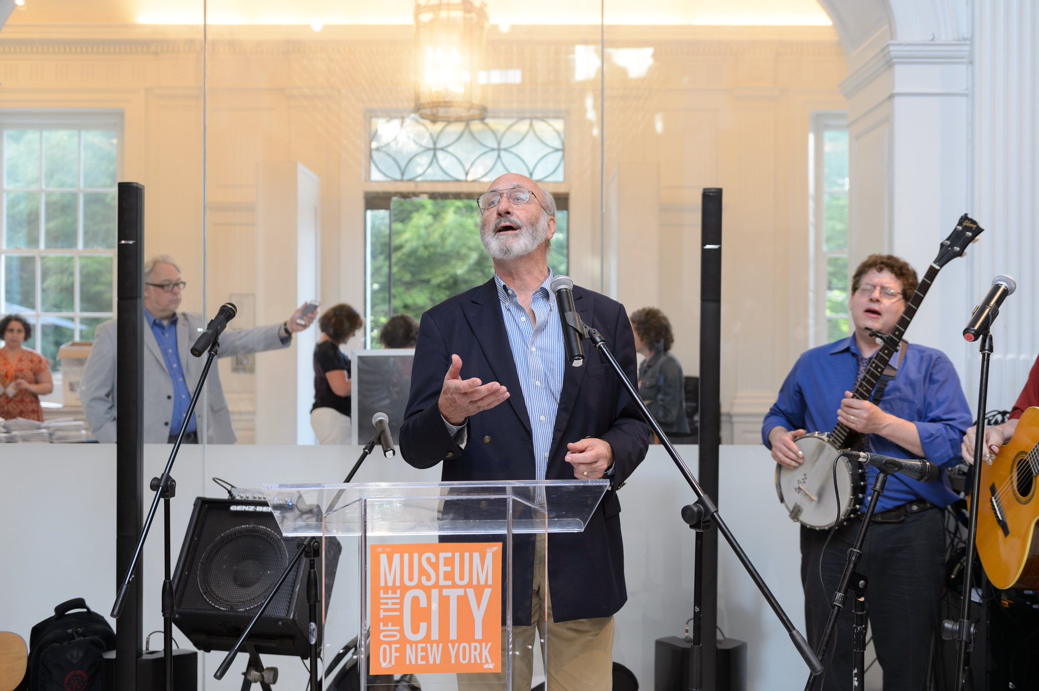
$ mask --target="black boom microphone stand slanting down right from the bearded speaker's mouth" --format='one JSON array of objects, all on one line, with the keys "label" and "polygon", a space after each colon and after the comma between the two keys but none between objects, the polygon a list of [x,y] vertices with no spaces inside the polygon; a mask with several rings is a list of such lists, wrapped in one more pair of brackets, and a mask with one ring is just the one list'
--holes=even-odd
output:
[{"label": "black boom microphone stand slanting down right from the bearded speaker's mouth", "polygon": [[[570,319],[571,315],[576,319],[571,320]],[[772,590],[769,589],[768,584],[765,582],[765,579],[762,578],[762,575],[757,573],[757,570],[754,568],[754,564],[751,563],[750,557],[748,557],[747,553],[743,551],[743,548],[740,547],[740,544],[737,542],[736,536],[732,534],[731,530],[729,530],[728,526],[725,525],[725,522],[722,520],[721,515],[718,513],[718,507],[715,506],[714,502],[711,500],[711,497],[709,497],[707,494],[703,493],[703,490],[700,488],[699,482],[696,481],[696,477],[689,471],[689,468],[686,466],[685,461],[683,461],[682,457],[678,455],[678,451],[675,450],[674,446],[671,444],[671,441],[667,438],[667,435],[664,434],[664,431],[661,429],[656,418],[654,418],[652,414],[646,408],[645,404],[642,403],[642,398],[639,396],[638,389],[635,388],[635,385],[632,384],[631,380],[628,379],[628,376],[624,375],[623,368],[620,366],[620,363],[617,362],[616,358],[613,357],[613,353],[611,353],[609,347],[607,347],[606,340],[603,338],[603,335],[598,331],[596,331],[593,327],[584,324],[581,317],[577,314],[577,312],[571,312],[570,314],[567,314],[566,320],[568,324],[574,326],[574,328],[578,329],[579,333],[581,333],[583,337],[591,339],[592,344],[610,363],[614,374],[616,374],[617,376],[617,379],[620,381],[621,385],[628,391],[629,395],[632,396],[632,399],[635,402],[635,405],[638,406],[639,412],[642,413],[642,417],[645,418],[646,422],[652,429],[654,434],[656,434],[657,437],[660,438],[661,444],[664,445],[664,448],[667,449],[668,455],[670,455],[671,460],[674,461],[674,465],[678,468],[678,472],[682,473],[683,477],[686,478],[686,482],[689,483],[689,487],[692,488],[693,492],[696,494],[697,496],[696,502],[683,508],[683,520],[686,520],[686,522],[690,524],[690,527],[697,530],[697,532],[702,531],[705,527],[708,527],[707,523],[708,521],[711,521],[716,526],[718,526],[718,531],[722,534],[723,537],[725,537],[725,542],[728,543],[728,546],[731,548],[732,553],[736,554],[736,557],[740,560],[740,563],[743,564],[743,568],[747,572],[747,575],[750,576],[752,581],[754,581],[754,585],[757,586],[757,589],[761,591],[762,597],[765,598],[765,601],[768,602],[769,606],[772,608],[772,611],[775,612],[775,615],[779,619],[779,623],[782,624],[783,629],[785,629],[787,633],[790,635],[791,640],[794,643],[794,647],[796,647],[797,652],[801,654],[801,657],[804,659],[805,664],[808,665],[808,669],[811,670],[811,674],[816,675],[822,672],[823,666],[819,662],[819,658],[816,657],[816,654],[811,652],[811,647],[808,645],[808,641],[804,639],[804,636],[802,636],[801,633],[794,627],[794,623],[790,620],[789,616],[787,616],[787,612],[783,611],[782,606],[779,604],[779,601],[776,600],[775,596],[772,593]],[[697,527],[697,525],[694,525],[694,523],[697,524],[699,527]],[[699,545],[700,542],[702,542],[702,535],[698,535],[697,545]],[[699,583],[699,581],[700,578],[697,578],[696,582]],[[694,642],[692,652],[693,656],[701,655],[701,651],[699,649],[700,645],[699,614],[700,611],[702,610],[702,602],[700,601],[700,595],[701,593],[699,587],[694,586],[693,587],[693,617],[694,617],[693,641]],[[714,632],[712,632],[712,635],[713,634]],[[692,676],[695,678],[700,676],[700,674],[702,673],[700,667],[701,665],[694,666]],[[696,679],[695,681],[692,678],[690,679],[690,689],[692,691],[699,691],[700,687],[701,687],[701,682],[699,679]]]}]

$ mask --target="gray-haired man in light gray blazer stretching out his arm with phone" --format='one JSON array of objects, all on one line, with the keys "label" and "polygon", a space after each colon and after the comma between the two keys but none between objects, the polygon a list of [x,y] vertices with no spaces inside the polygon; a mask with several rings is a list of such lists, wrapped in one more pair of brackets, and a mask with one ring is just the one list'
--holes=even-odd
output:
[{"label": "gray-haired man in light gray blazer stretching out his arm with phone", "polygon": [[[181,270],[169,256],[160,255],[144,265],[144,441],[152,444],[172,442],[187,414],[191,394],[202,377],[206,358],[191,357],[188,349],[206,328],[202,314],[178,312],[184,288]],[[220,357],[244,355],[287,348],[292,334],[314,322],[314,313],[296,319],[305,304],[283,324],[227,330],[220,336]],[[101,442],[115,441],[115,320],[98,327],[94,348],[83,370],[80,400],[94,437]],[[231,411],[220,386],[218,367],[207,378],[209,405],[195,409],[188,421],[185,441],[198,441],[206,429],[207,440],[214,444],[233,444],[237,437],[231,424]]]}]

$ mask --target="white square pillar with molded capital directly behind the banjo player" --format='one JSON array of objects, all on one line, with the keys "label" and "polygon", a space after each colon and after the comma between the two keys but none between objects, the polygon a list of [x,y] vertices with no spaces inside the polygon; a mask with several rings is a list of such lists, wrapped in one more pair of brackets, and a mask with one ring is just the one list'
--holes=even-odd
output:
[{"label": "white square pillar with molded capital directly behind the banjo player", "polygon": [[[969,56],[965,42],[885,42],[856,60],[842,83],[849,110],[852,269],[870,253],[886,252],[923,276],[960,215],[974,212]],[[967,256],[977,251],[971,246]],[[910,342],[945,352],[961,380],[968,353],[960,331],[973,273],[970,260],[948,264],[906,334]]]}]

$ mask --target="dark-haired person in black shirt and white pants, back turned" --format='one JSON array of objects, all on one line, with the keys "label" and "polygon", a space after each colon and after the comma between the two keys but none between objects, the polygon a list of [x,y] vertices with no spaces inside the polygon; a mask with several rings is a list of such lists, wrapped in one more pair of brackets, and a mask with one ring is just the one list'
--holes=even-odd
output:
[{"label": "dark-haired person in black shirt and white pants, back turned", "polygon": [[319,444],[346,444],[350,440],[350,358],[340,346],[364,324],[357,311],[344,303],[329,307],[318,320],[321,338],[314,348],[311,427]]}]

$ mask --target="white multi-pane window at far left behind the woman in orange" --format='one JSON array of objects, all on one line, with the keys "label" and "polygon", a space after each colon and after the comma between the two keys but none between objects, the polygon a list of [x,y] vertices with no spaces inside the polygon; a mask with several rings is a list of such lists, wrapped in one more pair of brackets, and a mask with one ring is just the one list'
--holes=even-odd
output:
[{"label": "white multi-pane window at far left behind the woman in orange", "polygon": [[26,344],[94,338],[114,309],[118,116],[0,116],[0,304],[33,324]]}]

